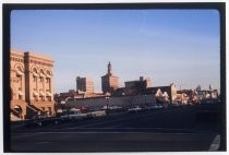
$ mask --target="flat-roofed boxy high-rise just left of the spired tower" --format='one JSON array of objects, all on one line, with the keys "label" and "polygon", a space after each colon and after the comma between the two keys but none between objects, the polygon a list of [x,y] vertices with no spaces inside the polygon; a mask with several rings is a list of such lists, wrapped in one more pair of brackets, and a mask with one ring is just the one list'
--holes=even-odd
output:
[{"label": "flat-roofed boxy high-rise just left of the spired tower", "polygon": [[85,93],[94,93],[94,82],[91,78],[76,78],[76,91]]}]

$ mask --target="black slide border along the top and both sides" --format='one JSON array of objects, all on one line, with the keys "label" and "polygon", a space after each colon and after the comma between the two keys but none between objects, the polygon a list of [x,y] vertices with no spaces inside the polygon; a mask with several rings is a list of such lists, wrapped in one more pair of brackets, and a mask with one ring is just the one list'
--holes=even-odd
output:
[{"label": "black slide border along the top and both sides", "polygon": [[226,2],[174,2],[174,3],[3,3],[3,152],[10,150],[10,16],[13,10],[125,10],[125,9],[215,9],[220,15],[220,119],[221,136],[219,151],[227,151],[226,140]]}]

